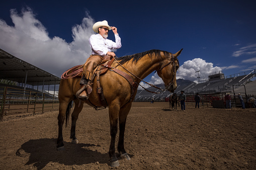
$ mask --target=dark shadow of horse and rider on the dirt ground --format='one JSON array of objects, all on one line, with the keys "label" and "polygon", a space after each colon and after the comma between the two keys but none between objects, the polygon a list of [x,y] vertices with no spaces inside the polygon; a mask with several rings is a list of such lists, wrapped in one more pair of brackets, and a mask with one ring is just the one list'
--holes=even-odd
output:
[{"label": "dark shadow of horse and rider on the dirt ground", "polygon": [[[28,164],[42,169],[49,162],[65,165],[82,165],[92,162],[109,163],[109,154],[97,151],[100,145],[64,142],[65,150],[56,149],[55,138],[31,139],[16,151],[17,156],[29,157]],[[95,151],[94,151],[95,150]]]}]

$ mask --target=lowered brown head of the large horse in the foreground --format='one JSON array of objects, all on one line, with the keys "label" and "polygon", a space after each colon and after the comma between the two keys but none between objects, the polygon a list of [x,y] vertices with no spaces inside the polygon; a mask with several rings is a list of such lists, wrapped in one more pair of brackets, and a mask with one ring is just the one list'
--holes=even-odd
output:
[{"label": "lowered brown head of the large horse in the foreground", "polygon": [[160,69],[157,70],[157,74],[162,78],[165,90],[169,92],[174,92],[177,88],[176,83],[176,73],[179,69],[179,60],[178,56],[181,54],[183,49],[181,49],[176,54],[170,54],[169,57],[166,57],[162,62],[160,62]]}]

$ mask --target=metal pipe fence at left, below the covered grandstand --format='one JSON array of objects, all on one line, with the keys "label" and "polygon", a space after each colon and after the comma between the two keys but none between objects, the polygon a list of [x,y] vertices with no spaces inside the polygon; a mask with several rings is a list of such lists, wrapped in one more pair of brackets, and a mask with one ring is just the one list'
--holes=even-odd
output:
[{"label": "metal pipe fence at left, below the covered grandstand", "polygon": [[56,95],[12,87],[0,87],[0,89],[1,121],[7,115],[22,113],[33,113],[34,115],[36,112],[44,113],[44,111],[59,108],[59,100]]}]

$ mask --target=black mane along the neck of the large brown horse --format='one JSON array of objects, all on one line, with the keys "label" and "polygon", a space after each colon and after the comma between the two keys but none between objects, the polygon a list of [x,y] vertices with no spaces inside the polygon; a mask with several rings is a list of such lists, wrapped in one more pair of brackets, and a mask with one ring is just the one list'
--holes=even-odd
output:
[{"label": "black mane along the neck of the large brown horse", "polygon": [[138,62],[143,56],[147,55],[149,57],[152,57],[153,54],[156,55],[156,57],[160,57],[160,52],[163,52],[164,56],[166,57],[169,57],[170,56],[170,53],[167,52],[167,51],[161,51],[161,50],[149,50],[149,51],[145,51],[145,52],[142,52],[142,53],[137,53],[137,54],[132,54],[130,56],[123,56],[123,57],[119,57],[117,58],[117,61],[119,61],[120,64],[124,64],[128,61],[130,61],[131,59],[132,62]]}]

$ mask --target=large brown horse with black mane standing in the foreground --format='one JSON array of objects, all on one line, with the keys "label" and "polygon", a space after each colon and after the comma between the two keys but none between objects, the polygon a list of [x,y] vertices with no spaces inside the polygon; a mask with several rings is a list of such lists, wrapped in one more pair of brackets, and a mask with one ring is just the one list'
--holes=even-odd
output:
[{"label": "large brown horse with black mane standing in the foreground", "polygon": [[[182,49],[183,50],[183,49]],[[132,101],[135,98],[137,87],[131,90],[131,84],[123,77],[114,72],[119,69],[121,72],[128,74],[134,81],[139,83],[142,79],[148,76],[151,72],[157,72],[158,76],[163,80],[165,90],[174,92],[177,88],[176,72],[179,69],[178,56],[182,50],[176,54],[166,51],[149,50],[142,53],[137,53],[129,56],[116,58],[109,68],[108,72],[100,76],[100,85],[103,89],[103,94],[109,108],[110,119],[110,166],[119,166],[118,158],[115,154],[115,142],[119,124],[119,139],[117,150],[121,158],[130,160],[128,153],[124,147],[124,132],[127,115],[131,109]],[[86,101],[82,101],[75,97],[76,92],[80,89],[79,81],[81,77],[75,76],[69,79],[61,79],[59,84],[59,114],[58,114],[58,138],[57,150],[64,149],[62,128],[66,117],[66,126],[71,112],[72,100],[75,103],[71,115],[71,143],[78,143],[75,137],[75,124],[79,113],[82,110],[83,103],[90,106],[102,106],[97,94],[97,80],[93,81],[93,91]],[[143,80],[142,80],[143,81]]]}]

